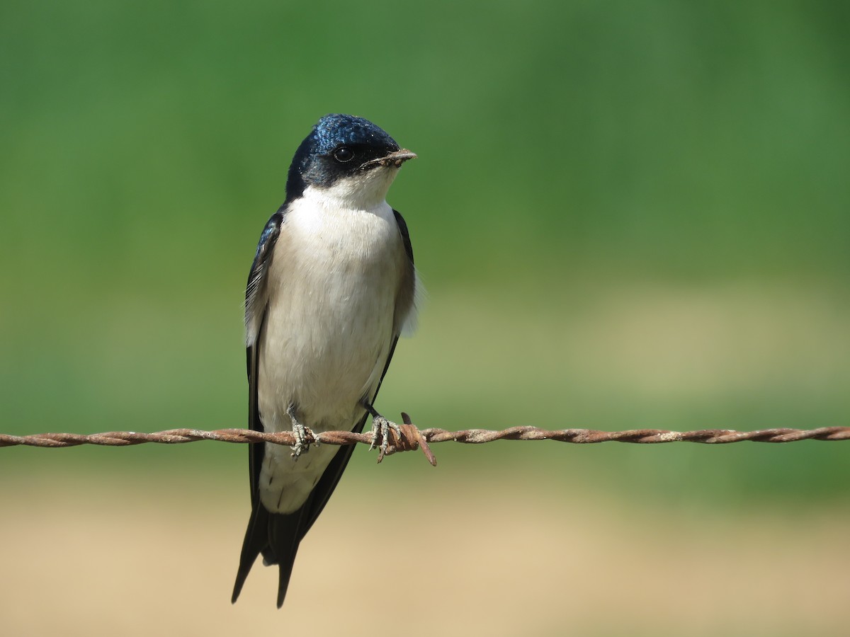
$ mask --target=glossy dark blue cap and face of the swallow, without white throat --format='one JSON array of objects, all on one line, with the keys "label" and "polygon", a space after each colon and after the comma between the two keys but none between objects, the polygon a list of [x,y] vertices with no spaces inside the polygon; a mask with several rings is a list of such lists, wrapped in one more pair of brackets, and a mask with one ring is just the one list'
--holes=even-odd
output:
[{"label": "glossy dark blue cap and face of the swallow, without white throat", "polygon": [[[398,168],[416,157],[382,128],[362,117],[326,115],[313,127],[292,158],[286,200],[308,186],[330,188],[341,179],[364,176],[379,168]],[[390,180],[391,181],[391,180]]]}]

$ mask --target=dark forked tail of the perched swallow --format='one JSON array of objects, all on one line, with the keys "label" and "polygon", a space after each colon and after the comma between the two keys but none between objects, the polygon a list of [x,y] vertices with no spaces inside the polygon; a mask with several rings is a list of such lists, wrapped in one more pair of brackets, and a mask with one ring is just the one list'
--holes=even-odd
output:
[{"label": "dark forked tail of the perched swallow", "polygon": [[301,518],[306,507],[292,513],[270,513],[261,502],[255,502],[248,521],[245,541],[242,543],[242,553],[239,558],[239,570],[236,572],[236,582],[233,586],[231,603],[239,598],[242,585],[245,583],[251,567],[257,561],[258,555],[263,555],[263,564],[278,566],[277,607],[283,606],[295,555],[303,534]]}]

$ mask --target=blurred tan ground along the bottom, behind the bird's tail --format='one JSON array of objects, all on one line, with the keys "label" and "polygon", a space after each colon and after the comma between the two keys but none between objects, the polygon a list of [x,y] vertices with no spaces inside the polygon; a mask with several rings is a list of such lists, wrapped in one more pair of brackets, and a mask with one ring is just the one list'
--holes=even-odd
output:
[{"label": "blurred tan ground along the bottom, behind the bird's tail", "polygon": [[[850,511],[707,515],[558,494],[343,481],[275,572],[230,587],[245,485],[42,478],[0,502],[3,635],[823,635],[850,629]],[[21,481],[22,482],[22,481]],[[360,483],[358,483],[360,482]],[[433,484],[439,484],[434,482]],[[237,488],[239,487],[239,488]],[[438,492],[439,491],[439,492]],[[380,495],[380,499],[378,496]]]}]

